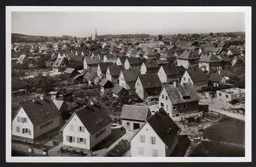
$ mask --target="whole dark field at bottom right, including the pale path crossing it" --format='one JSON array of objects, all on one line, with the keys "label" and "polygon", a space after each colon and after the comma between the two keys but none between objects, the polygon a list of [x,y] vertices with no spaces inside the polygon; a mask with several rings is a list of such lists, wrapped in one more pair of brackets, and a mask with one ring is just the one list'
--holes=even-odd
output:
[{"label": "whole dark field at bottom right, including the pale path crossing it", "polygon": [[206,128],[202,140],[189,156],[242,157],[245,156],[245,123],[223,117],[217,124]]}]

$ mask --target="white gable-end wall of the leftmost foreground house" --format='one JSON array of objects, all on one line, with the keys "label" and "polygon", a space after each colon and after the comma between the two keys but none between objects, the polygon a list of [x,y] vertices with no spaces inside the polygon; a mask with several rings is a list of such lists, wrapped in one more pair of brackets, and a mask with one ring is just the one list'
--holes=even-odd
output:
[{"label": "white gable-end wall of the leftmost foreground house", "polygon": [[[15,136],[21,136],[21,137],[27,137],[27,138],[34,138],[34,126],[32,122],[30,121],[27,113],[24,111],[24,109],[21,107],[18,113],[12,120],[12,135]],[[20,116],[20,122],[18,122],[17,117]],[[28,118],[28,123],[22,123],[22,117]],[[16,127],[19,127],[19,132],[16,131]],[[31,130],[31,135],[29,133],[22,133],[23,128],[28,128]]]}]

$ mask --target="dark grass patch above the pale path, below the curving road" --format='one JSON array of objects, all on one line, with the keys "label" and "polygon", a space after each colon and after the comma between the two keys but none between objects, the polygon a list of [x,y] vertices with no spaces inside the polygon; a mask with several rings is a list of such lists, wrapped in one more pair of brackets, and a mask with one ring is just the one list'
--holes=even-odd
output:
[{"label": "dark grass patch above the pale path, below the curving road", "polygon": [[219,123],[206,128],[203,137],[209,140],[245,144],[245,122],[223,117]]}]

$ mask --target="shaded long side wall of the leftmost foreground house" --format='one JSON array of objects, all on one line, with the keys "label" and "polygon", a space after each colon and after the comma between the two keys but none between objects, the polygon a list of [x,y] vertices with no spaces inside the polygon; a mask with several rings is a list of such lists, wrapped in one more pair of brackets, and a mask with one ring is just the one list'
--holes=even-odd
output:
[{"label": "shaded long side wall of the leftmost foreground house", "polygon": [[[53,121],[53,124],[50,124],[50,125],[45,126],[44,128],[40,129],[41,125],[44,125],[44,124],[46,124],[48,122],[51,122],[51,121]],[[51,118],[49,121],[46,121],[46,122],[44,122],[42,124],[39,124],[39,125],[35,126],[34,127],[34,137],[38,137],[38,136],[40,136],[40,135],[42,135],[44,133],[49,132],[50,130],[52,130],[54,128],[59,127],[60,126],[60,122],[59,121],[60,121],[60,117],[57,116],[57,117]]]}]

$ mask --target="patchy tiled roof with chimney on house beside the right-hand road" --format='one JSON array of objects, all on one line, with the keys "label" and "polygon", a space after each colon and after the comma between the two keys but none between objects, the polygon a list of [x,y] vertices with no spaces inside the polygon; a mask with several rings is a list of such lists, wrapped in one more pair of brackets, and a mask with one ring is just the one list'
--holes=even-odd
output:
[{"label": "patchy tiled roof with chimney on house beside the right-hand road", "polygon": [[[196,89],[190,82],[183,83],[183,86],[182,84],[176,84],[176,87],[174,86],[174,84],[164,85],[164,88],[167,91],[168,97],[172,104],[199,100]],[[190,99],[184,99],[183,97],[185,96],[189,96]]]}]

